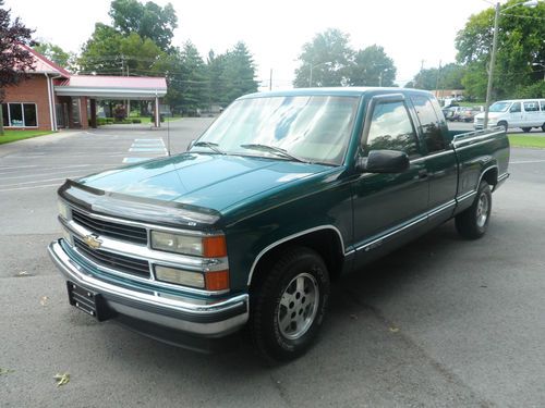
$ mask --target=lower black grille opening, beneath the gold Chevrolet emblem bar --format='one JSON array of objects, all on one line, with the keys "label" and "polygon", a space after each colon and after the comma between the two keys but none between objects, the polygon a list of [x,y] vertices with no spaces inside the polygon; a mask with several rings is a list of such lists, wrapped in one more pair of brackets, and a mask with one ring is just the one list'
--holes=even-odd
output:
[{"label": "lower black grille opening, beneath the gold Chevrolet emblem bar", "polygon": [[92,249],[84,242],[74,237],[74,245],[85,258],[106,268],[120,272],[130,273],[140,277],[149,279],[149,262],[125,257],[119,254],[107,252],[100,249]]}]

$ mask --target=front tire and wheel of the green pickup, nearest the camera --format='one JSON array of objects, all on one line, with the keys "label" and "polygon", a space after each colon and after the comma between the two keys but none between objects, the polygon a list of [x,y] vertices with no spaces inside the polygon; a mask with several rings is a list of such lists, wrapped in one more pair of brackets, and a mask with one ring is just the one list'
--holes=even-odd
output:
[{"label": "front tire and wheel of the green pickup, nearest the camera", "polygon": [[251,294],[250,333],[270,362],[303,355],[315,341],[329,299],[329,274],[322,257],[294,247],[259,271]]}]

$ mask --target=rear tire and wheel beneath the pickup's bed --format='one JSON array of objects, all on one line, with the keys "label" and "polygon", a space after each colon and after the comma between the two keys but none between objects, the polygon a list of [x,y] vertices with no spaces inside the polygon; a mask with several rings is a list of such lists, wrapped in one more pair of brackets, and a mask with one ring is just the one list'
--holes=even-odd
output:
[{"label": "rear tire and wheel beneath the pickup's bed", "polygon": [[491,211],[491,186],[485,181],[482,181],[475,200],[471,207],[456,215],[456,228],[458,234],[468,239],[481,238],[488,228]]}]

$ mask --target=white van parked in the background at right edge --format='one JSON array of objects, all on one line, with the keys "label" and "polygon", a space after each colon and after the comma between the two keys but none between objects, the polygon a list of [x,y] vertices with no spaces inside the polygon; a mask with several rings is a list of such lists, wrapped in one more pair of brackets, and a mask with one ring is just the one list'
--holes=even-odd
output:
[{"label": "white van parked in the background at right edge", "polygon": [[[476,129],[483,128],[484,112],[473,120]],[[545,132],[545,99],[500,100],[491,106],[488,126],[520,127],[530,132],[541,127]]]}]

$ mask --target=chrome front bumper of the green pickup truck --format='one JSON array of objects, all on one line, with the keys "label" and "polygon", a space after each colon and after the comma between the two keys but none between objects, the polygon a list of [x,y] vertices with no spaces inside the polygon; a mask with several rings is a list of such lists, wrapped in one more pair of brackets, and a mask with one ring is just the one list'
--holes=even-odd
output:
[{"label": "chrome front bumper of the green pickup truck", "polygon": [[66,280],[105,299],[109,309],[158,326],[202,337],[222,337],[243,326],[249,318],[249,296],[228,299],[193,299],[160,288],[153,293],[112,285],[94,277],[72,261],[59,242],[49,245],[49,255]]}]

